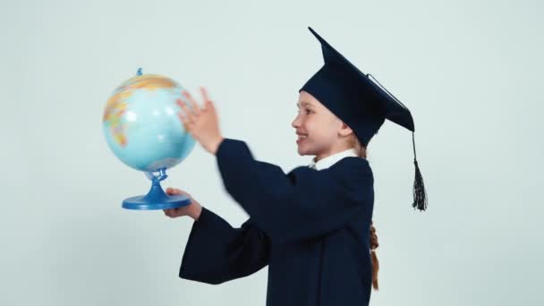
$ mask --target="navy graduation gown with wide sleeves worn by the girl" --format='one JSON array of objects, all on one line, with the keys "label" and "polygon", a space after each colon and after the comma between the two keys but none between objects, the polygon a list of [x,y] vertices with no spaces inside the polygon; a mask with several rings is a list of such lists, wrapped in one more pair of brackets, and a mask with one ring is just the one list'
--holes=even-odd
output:
[{"label": "navy graduation gown with wide sleeves worn by the girl", "polygon": [[267,306],[368,305],[374,191],[366,159],[285,174],[255,160],[243,141],[225,139],[217,166],[250,218],[234,228],[202,208],[180,277],[217,285],[268,266]]}]

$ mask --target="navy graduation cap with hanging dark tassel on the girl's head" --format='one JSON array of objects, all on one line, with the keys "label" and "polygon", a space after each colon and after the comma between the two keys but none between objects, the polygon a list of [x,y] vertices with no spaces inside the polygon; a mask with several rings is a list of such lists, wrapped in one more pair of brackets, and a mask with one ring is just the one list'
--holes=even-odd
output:
[{"label": "navy graduation cap with hanging dark tassel on the girl's head", "polygon": [[415,154],[414,125],[410,110],[385,89],[370,74],[361,72],[344,55],[308,28],[319,40],[325,64],[302,89],[317,98],[333,114],[346,123],[365,147],[385,122],[389,120],[412,131],[413,208],[427,208],[427,194]]}]

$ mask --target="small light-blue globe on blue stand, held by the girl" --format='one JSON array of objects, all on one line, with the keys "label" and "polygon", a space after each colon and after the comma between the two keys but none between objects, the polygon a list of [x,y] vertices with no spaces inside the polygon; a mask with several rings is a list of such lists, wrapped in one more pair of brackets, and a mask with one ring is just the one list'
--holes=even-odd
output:
[{"label": "small light-blue globe on blue stand, held by the girl", "polygon": [[166,169],[180,164],[196,141],[179,115],[190,107],[183,87],[159,74],[138,74],[119,85],[106,102],[102,129],[115,157],[151,180],[148,194],[123,200],[123,208],[165,209],[189,204],[185,196],[168,196],[160,187]]}]

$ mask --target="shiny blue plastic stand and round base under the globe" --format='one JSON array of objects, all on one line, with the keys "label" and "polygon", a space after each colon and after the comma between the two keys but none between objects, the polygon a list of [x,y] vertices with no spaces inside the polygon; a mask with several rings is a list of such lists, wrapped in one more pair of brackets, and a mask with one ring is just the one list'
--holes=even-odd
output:
[{"label": "shiny blue plastic stand and round base under the globe", "polygon": [[191,204],[191,199],[185,195],[169,196],[160,186],[160,181],[168,177],[166,168],[159,169],[159,174],[145,173],[151,180],[151,189],[148,194],[131,197],[123,200],[123,208],[137,210],[181,208]]}]

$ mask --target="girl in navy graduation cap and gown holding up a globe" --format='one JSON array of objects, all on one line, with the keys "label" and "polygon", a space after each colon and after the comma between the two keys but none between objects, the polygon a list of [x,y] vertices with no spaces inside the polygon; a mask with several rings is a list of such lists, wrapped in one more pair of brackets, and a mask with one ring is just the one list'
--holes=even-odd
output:
[{"label": "girl in navy graduation cap and gown holding up a globe", "polygon": [[[255,160],[243,141],[223,138],[204,89],[201,109],[185,93],[191,110],[180,104],[183,126],[216,155],[226,191],[250,218],[234,228],[188,193],[171,188],[166,192],[189,196],[191,205],[165,214],[195,220],[182,278],[221,284],[268,265],[268,306],[368,305],[370,287],[378,289],[378,242],[371,226],[373,175],[366,147],[385,119],[413,132],[412,116],[310,31],[321,43],[325,64],[300,90],[292,125],[298,153],[315,156],[312,164],[285,174]],[[418,174],[416,162],[413,206],[423,210]]]}]

